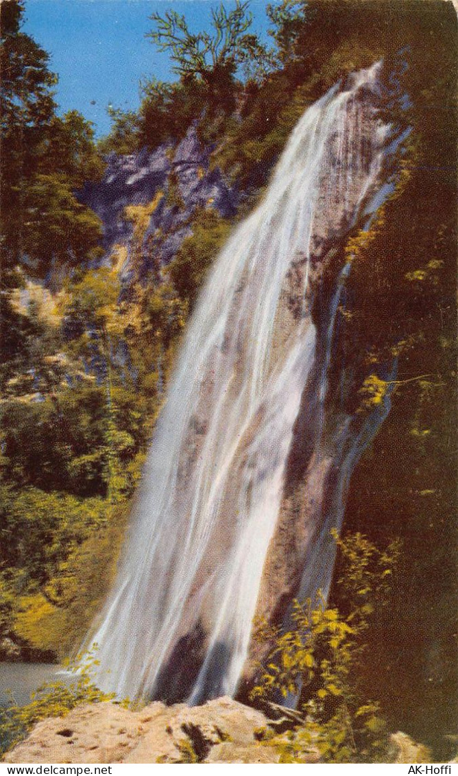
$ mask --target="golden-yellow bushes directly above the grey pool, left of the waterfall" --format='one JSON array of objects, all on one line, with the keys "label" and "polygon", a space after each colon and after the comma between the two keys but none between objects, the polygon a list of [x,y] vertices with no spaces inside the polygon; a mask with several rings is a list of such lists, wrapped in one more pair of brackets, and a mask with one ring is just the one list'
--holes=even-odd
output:
[{"label": "golden-yellow bushes directly above the grey pool, left of the waterfall", "polygon": [[[5,563],[0,574],[2,638],[19,644],[25,659],[63,659],[74,652],[113,584],[129,504],[92,500],[89,513],[90,502],[81,501],[79,513],[75,509],[74,539],[54,547],[46,579],[33,579],[26,563]],[[48,536],[53,540],[52,532]]]}]

